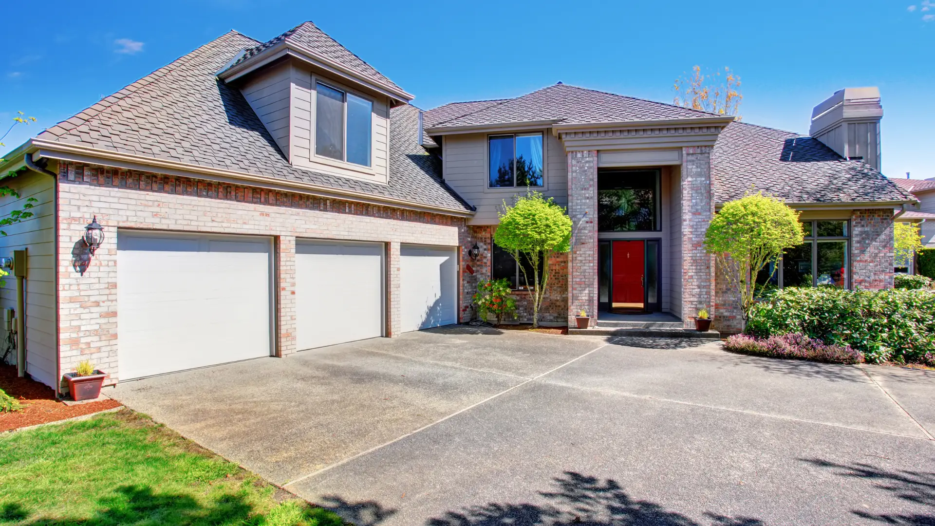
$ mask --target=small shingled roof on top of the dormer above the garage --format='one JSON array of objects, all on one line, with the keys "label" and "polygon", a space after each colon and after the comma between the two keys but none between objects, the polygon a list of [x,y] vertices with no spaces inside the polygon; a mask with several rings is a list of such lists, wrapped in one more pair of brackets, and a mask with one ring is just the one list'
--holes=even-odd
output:
[{"label": "small shingled roof on top of the dormer above the garage", "polygon": [[238,58],[237,61],[235,61],[231,66],[237,66],[237,64],[240,64],[252,56],[260,54],[261,52],[266,51],[267,49],[272,48],[276,44],[284,41],[293,43],[296,46],[301,46],[302,48],[323,56],[327,60],[339,64],[340,66],[347,67],[354,73],[366,79],[376,80],[379,83],[387,84],[401,92],[405,91],[397,86],[393,80],[387,79],[380,71],[377,71],[376,68],[370,66],[359,56],[353,54],[351,51],[348,51],[347,48],[340,45],[337,40],[329,37],[324,33],[324,31],[319,29],[312,22],[303,22],[299,25],[296,25],[289,31],[286,31],[279,37],[271,38],[259,46],[254,46],[247,49],[243,56]]}]

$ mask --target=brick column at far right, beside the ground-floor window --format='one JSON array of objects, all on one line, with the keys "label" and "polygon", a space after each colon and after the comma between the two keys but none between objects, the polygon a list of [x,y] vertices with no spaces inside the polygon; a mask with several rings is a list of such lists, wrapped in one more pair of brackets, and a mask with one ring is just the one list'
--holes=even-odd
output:
[{"label": "brick column at far right, beside the ground-floor window", "polygon": [[893,210],[856,210],[851,218],[851,285],[893,287]]}]

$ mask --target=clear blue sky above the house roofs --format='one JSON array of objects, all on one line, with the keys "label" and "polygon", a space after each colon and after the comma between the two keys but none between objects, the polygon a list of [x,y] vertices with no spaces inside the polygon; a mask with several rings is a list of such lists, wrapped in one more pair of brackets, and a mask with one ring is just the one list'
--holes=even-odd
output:
[{"label": "clear blue sky above the house roofs", "polygon": [[729,66],[742,80],[744,121],[805,133],[813,106],[834,91],[879,86],[884,172],[935,177],[933,0],[94,4],[5,8],[0,123],[17,110],[38,122],[14,129],[0,151],[230,29],[266,40],[310,20],[424,109],[558,80],[670,102],[692,66]]}]

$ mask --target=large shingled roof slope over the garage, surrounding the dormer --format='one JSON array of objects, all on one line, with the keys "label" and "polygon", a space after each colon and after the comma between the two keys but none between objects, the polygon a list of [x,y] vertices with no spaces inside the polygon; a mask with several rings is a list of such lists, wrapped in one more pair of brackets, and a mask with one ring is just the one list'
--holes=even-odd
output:
[{"label": "large shingled roof slope over the garage, surrounding the dormer", "polygon": [[[390,114],[387,184],[295,168],[237,88],[215,72],[257,41],[232,31],[56,124],[37,139],[390,197],[464,212],[440,167],[417,144],[418,110]],[[154,170],[158,171],[158,169]]]}]

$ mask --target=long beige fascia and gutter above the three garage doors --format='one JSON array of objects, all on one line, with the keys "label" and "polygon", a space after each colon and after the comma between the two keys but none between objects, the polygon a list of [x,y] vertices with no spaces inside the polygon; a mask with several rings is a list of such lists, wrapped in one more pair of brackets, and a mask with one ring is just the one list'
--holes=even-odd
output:
[{"label": "long beige fascia and gutter above the three garage doors", "polygon": [[88,163],[94,165],[103,165],[113,168],[136,169],[140,171],[154,171],[165,173],[167,175],[176,175],[179,177],[194,177],[217,181],[219,183],[249,183],[254,186],[261,186],[284,192],[299,192],[316,197],[327,197],[332,199],[342,199],[367,204],[414,210],[418,212],[440,213],[444,215],[454,215],[457,217],[471,217],[474,212],[466,210],[454,210],[444,207],[434,207],[423,203],[415,203],[392,197],[373,196],[360,192],[343,191],[338,188],[322,186],[320,184],[302,183],[298,181],[289,181],[287,179],[278,179],[255,175],[247,172],[227,170],[223,168],[209,168],[197,165],[189,165],[176,161],[165,159],[155,159],[141,155],[129,153],[111,152],[108,150],[97,150],[86,148],[73,144],[64,144],[60,142],[46,142],[34,139],[34,145],[39,152],[40,157],[50,157],[63,161],[73,161]]}]

